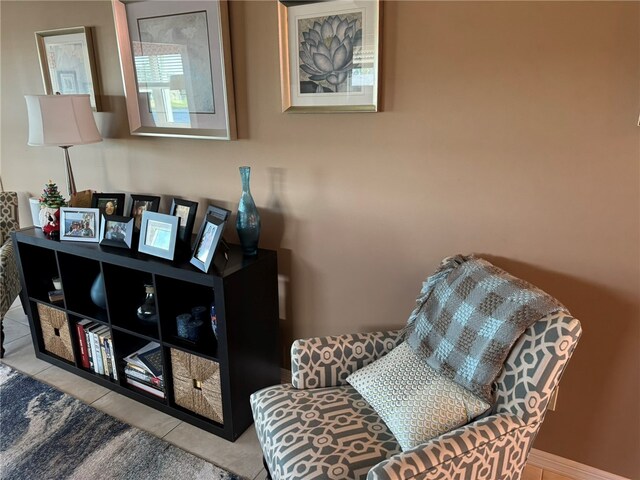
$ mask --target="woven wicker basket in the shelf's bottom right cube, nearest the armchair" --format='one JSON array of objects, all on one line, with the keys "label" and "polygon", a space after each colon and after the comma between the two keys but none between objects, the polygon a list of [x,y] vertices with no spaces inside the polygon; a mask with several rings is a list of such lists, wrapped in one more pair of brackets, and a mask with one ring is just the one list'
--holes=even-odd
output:
[{"label": "woven wicker basket in the shelf's bottom right cube, nearest the armchair", "polygon": [[171,367],[176,404],[223,423],[220,365],[172,348]]}]

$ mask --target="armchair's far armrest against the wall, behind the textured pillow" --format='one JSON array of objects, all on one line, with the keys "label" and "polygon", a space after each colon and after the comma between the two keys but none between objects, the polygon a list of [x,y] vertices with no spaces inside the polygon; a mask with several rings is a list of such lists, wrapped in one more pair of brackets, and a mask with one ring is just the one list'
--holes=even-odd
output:
[{"label": "armchair's far armrest against the wall, behind the textured pillow", "polygon": [[291,346],[291,383],[307,389],[345,385],[345,379],[392,350],[400,330],[296,340]]}]

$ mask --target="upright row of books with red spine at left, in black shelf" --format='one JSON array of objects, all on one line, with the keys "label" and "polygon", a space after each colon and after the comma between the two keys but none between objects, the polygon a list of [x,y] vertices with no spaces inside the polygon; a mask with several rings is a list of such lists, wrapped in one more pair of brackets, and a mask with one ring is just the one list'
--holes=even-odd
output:
[{"label": "upright row of books with red spine at left, in black shelf", "polygon": [[76,323],[82,366],[98,375],[118,380],[109,327],[91,320]]}]

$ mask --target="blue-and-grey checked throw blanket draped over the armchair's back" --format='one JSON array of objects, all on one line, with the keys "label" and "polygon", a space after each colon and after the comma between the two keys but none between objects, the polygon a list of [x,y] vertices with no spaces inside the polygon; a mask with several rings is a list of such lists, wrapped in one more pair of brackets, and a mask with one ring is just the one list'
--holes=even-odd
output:
[{"label": "blue-and-grey checked throw blanket draped over the armchair's back", "polygon": [[[566,309],[486,260],[443,260],[409,317],[407,342],[427,364],[489,403],[513,344],[541,318]],[[567,312],[568,313],[568,312]]]}]

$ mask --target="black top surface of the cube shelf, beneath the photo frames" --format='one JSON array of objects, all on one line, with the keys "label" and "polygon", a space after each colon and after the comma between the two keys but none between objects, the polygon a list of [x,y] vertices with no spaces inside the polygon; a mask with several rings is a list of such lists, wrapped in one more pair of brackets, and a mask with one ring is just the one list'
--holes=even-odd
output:
[{"label": "black top surface of the cube shelf, beneath the photo frames", "polygon": [[[170,261],[140,253],[134,249],[137,248],[137,246],[128,250],[108,246],[103,247],[97,243],[90,242],[51,240],[37,227],[25,228],[12,235],[15,235],[20,243],[40,246],[71,255],[79,255],[101,262],[165,275],[210,287],[213,287],[214,278],[224,279],[230,277],[243,268],[260,262],[266,257],[276,255],[276,252],[273,250],[259,249],[257,255],[247,257],[242,254],[240,245],[232,244],[229,245],[229,260],[227,261],[224,258],[221,249],[219,249],[216,252],[209,273],[204,273],[189,263],[191,256],[187,255],[187,252],[184,251],[176,251],[176,259]],[[178,269],[178,273],[175,269]]]}]

